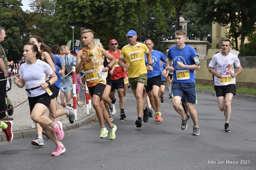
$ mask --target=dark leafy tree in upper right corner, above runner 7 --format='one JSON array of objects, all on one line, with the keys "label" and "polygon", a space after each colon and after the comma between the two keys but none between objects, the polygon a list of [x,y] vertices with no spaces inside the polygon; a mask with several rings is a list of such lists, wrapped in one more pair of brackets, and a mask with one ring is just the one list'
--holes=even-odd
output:
[{"label": "dark leafy tree in upper right corner, above runner 7", "polygon": [[[221,26],[229,26],[229,36],[235,41],[241,36],[241,47],[245,36],[255,29],[255,0],[194,0],[197,3],[197,17],[200,23],[217,22]],[[236,44],[237,47],[237,44]]]}]

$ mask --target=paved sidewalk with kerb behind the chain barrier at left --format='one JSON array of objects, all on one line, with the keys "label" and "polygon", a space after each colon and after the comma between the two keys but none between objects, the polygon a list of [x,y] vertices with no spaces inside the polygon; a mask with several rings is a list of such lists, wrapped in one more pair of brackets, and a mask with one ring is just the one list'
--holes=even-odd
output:
[{"label": "paved sidewalk with kerb behind the chain barrier at left", "polygon": [[[7,92],[8,99],[12,102],[13,107],[17,106],[18,104],[24,102],[28,99],[27,93],[25,91],[25,87],[19,88],[16,84],[12,81],[12,88],[10,91]],[[82,90],[82,89],[81,89]],[[80,98],[84,99],[81,96],[85,95],[85,91],[81,91]],[[60,96],[58,96],[57,101],[60,102]],[[65,98],[66,101],[66,98]],[[4,102],[4,101],[1,101]],[[82,102],[82,101],[81,101]],[[73,103],[73,97],[70,100],[70,103]],[[93,108],[93,106],[91,106]],[[68,131],[73,128],[79,128],[91,121],[92,119],[96,119],[96,114],[94,109],[89,109],[89,114],[86,114],[86,104],[84,104],[82,107],[79,107],[76,105],[76,112],[77,112],[77,120],[71,124],[69,122],[68,117],[66,115],[63,115],[61,117],[58,117],[55,119],[55,122],[60,121],[63,125],[63,131]],[[47,111],[47,115],[48,115]],[[8,113],[6,112],[6,115]],[[30,111],[29,111],[29,104],[28,101],[24,102],[23,104],[17,106],[13,110],[13,115],[9,116],[13,118],[13,139],[17,138],[23,138],[23,137],[30,137],[37,135],[37,131],[34,128],[31,128],[31,122],[30,122]],[[7,122],[7,121],[6,121]],[[0,131],[0,141],[6,140],[6,136],[3,132]]]}]

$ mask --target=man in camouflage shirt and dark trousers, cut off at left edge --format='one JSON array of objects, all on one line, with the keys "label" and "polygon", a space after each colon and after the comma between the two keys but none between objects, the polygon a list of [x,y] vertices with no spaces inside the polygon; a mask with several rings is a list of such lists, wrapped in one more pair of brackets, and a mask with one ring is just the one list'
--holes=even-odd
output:
[{"label": "man in camouflage shirt and dark trousers, cut off at left edge", "polygon": [[[0,27],[0,43],[6,37],[5,31]],[[5,97],[6,97],[6,82],[7,80],[3,80],[7,78],[8,73],[8,61],[3,50],[3,47],[0,44],[0,112],[5,110]],[[6,116],[5,112],[0,113],[0,120],[13,120],[13,118],[9,118]]]}]

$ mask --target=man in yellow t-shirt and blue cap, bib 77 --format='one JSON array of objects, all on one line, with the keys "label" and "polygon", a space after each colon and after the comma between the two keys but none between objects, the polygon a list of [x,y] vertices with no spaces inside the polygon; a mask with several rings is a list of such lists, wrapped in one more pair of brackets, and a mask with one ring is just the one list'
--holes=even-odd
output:
[{"label": "man in yellow t-shirt and blue cap, bib 77", "polygon": [[[137,128],[141,128],[142,112],[144,113],[143,121],[148,121],[149,109],[145,106],[142,93],[144,86],[147,86],[147,70],[153,71],[152,55],[145,44],[137,43],[137,34],[135,31],[130,30],[126,37],[129,44],[122,48],[120,57],[118,59],[118,65],[128,69],[129,83],[137,100],[138,119],[136,120],[135,124]],[[145,65],[145,54],[149,63],[148,67]],[[125,115],[121,114],[120,117],[122,116]]]}]

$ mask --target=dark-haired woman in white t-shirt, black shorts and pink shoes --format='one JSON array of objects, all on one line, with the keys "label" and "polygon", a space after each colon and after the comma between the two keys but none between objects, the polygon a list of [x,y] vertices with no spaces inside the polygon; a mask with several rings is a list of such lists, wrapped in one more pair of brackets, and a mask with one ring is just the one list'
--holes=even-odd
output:
[{"label": "dark-haired woman in white t-shirt, black shorts and pink shoes", "polygon": [[[37,60],[39,55],[35,44],[28,43],[24,46],[23,55],[27,63],[20,66],[20,77],[14,78],[14,83],[26,91],[31,110],[31,119],[43,127],[45,133],[56,144],[54,156],[65,152],[64,145],[60,142],[64,137],[61,122],[54,123],[46,115],[46,111],[51,103],[50,94],[46,91],[47,87],[57,81],[57,76],[47,63]],[[51,80],[45,82],[45,75],[48,74]]]}]

